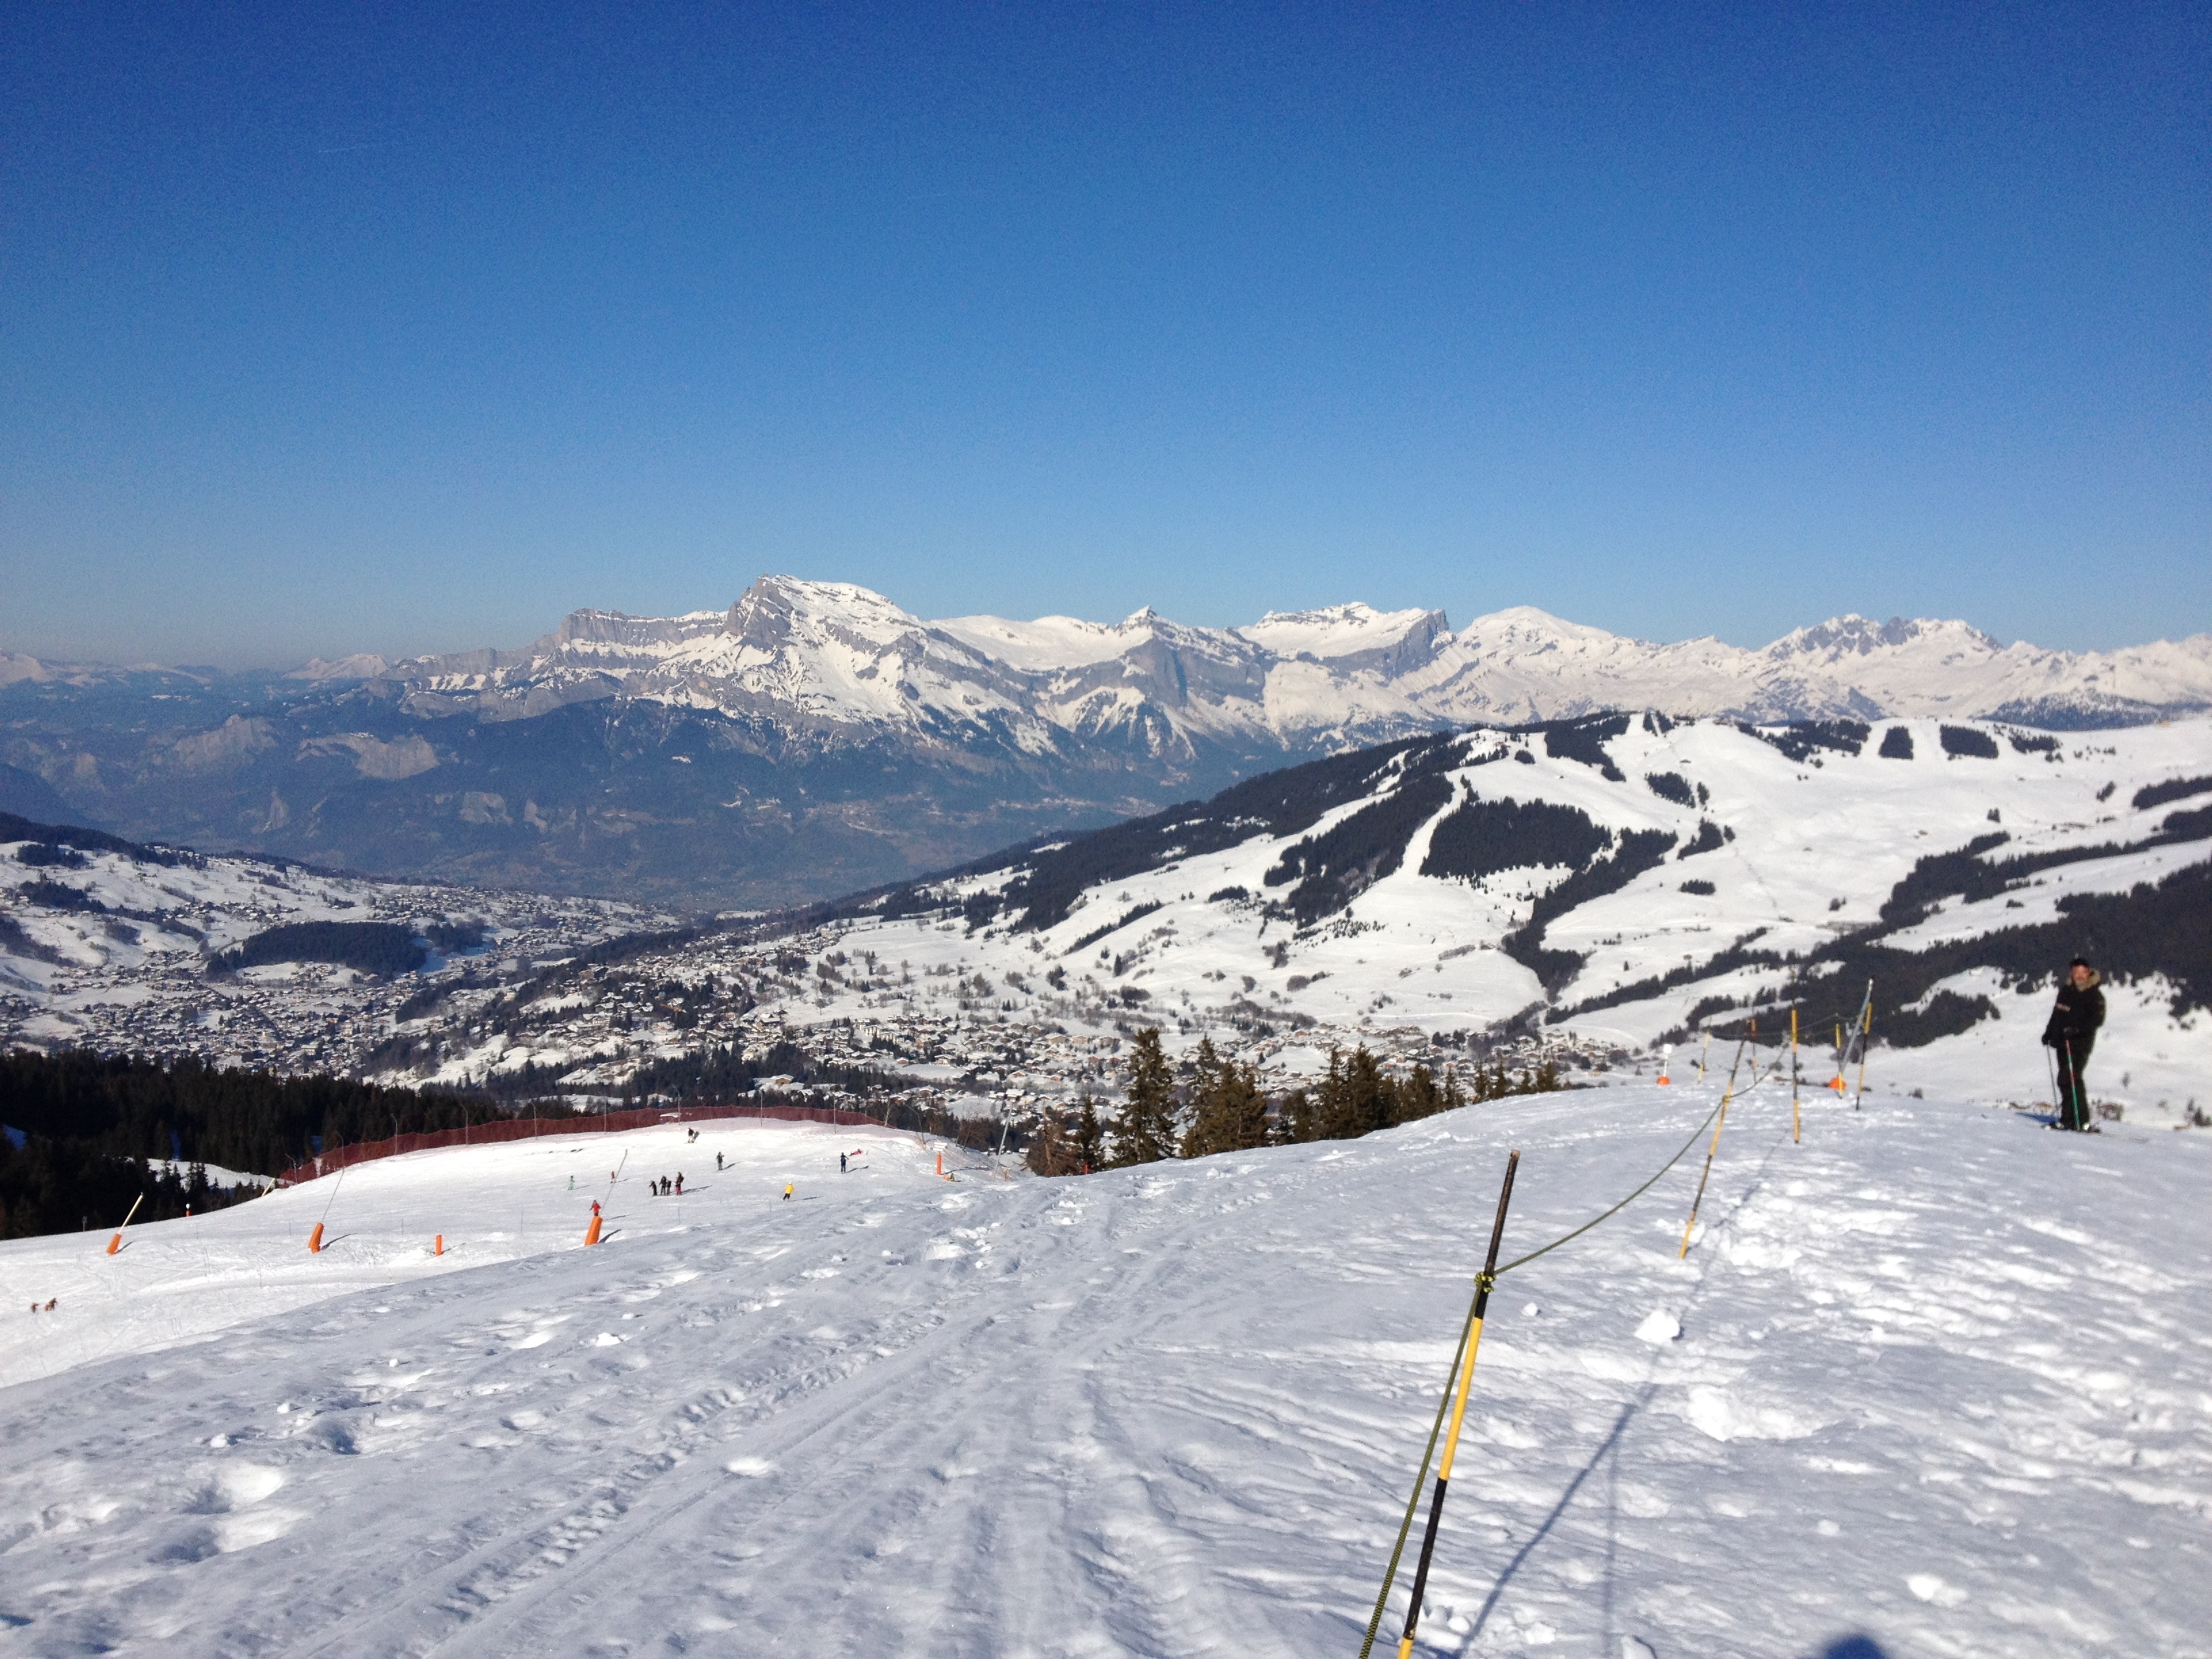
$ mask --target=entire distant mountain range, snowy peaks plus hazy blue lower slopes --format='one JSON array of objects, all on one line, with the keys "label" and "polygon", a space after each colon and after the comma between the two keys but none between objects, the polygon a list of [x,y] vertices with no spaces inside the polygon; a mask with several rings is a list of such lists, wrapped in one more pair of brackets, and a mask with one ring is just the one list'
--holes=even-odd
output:
[{"label": "entire distant mountain range, snowy peaks plus hazy blue lower slopes", "polygon": [[[763,575],[728,611],[575,611],[520,650],[288,675],[0,657],[44,814],[396,878],[752,907],[905,880],[1369,743],[1604,710],[2128,726],[2212,708],[2212,635],[2115,653],[1834,617],[1763,650],[1531,606],[1194,628],[927,622]],[[29,796],[27,796],[29,799]]]}]

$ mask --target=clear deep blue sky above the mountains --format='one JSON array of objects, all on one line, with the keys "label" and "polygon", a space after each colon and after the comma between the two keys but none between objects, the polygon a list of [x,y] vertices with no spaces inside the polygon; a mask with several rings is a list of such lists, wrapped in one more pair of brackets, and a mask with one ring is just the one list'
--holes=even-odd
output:
[{"label": "clear deep blue sky above the mountains", "polygon": [[2212,11],[11,7],[0,646],[2212,628]]}]

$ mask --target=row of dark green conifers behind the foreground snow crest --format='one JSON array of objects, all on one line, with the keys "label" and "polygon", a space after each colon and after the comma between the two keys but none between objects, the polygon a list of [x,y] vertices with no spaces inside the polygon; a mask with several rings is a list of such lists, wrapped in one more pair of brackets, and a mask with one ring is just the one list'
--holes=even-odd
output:
[{"label": "row of dark green conifers behind the foreground snow crest", "polygon": [[1210,1037],[1199,1042],[1183,1071],[1179,1079],[1161,1053],[1157,1029],[1139,1031],[1121,1110],[1102,1119],[1088,1093],[1073,1113],[1046,1110],[1029,1141],[1029,1168],[1037,1175],[1088,1175],[1256,1146],[1349,1141],[1473,1102],[1564,1088],[1548,1060],[1520,1075],[1506,1073],[1502,1060],[1486,1068],[1478,1064],[1464,1084],[1455,1068],[1447,1068],[1438,1086],[1427,1066],[1413,1066],[1409,1077],[1398,1079],[1383,1071],[1367,1044],[1349,1055],[1332,1048],[1329,1071],[1316,1088],[1292,1088],[1274,1099],[1261,1088],[1254,1066],[1223,1060]]}]

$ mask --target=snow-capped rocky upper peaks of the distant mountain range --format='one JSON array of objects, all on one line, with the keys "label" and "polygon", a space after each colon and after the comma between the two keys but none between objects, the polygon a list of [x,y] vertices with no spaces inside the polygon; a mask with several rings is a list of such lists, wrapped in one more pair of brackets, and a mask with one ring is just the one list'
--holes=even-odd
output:
[{"label": "snow-capped rocky upper peaks of the distant mountain range", "polygon": [[1964,622],[1834,617],[1743,650],[1710,637],[1626,639],[1531,606],[1453,630],[1442,611],[1365,604],[1267,613],[1243,628],[1192,628],[1152,611],[1117,624],[922,622],[847,582],[768,575],[728,613],[577,611],[522,650],[352,657],[296,672],[389,679],[422,708],[509,719],[644,697],[812,730],[984,728],[1031,752],[1075,734],[1188,754],[1608,708],[2112,726],[2212,708],[2212,635],[2066,653],[2000,646]]}]

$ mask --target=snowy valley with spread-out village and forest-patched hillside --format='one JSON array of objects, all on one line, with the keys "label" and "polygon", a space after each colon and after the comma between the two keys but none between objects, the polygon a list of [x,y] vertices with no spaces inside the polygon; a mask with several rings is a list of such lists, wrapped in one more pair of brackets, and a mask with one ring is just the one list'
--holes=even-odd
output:
[{"label": "snowy valley with spread-out village and forest-patched hillside", "polygon": [[[796,927],[661,933],[670,918],[606,902],[97,847],[58,867],[22,863],[53,856],[22,843],[0,865],[15,869],[0,876],[0,1020],[42,1044],[507,1093],[604,1095],[666,1062],[794,1044],[1020,1117],[1110,1095],[1141,1024],[1287,1086],[1360,1042],[1438,1075],[1498,1042],[1635,1073],[1754,1015],[1772,1042],[1796,1009],[1814,1071],[1874,980],[1871,1088],[2033,1102],[2048,1097],[2051,975],[2086,951],[2110,980],[2095,1095],[2179,1124],[2212,1106],[2208,803],[2205,717],[2070,737],[1478,728]],[[398,980],[208,973],[257,927],[332,916],[473,918],[484,940]]]}]

